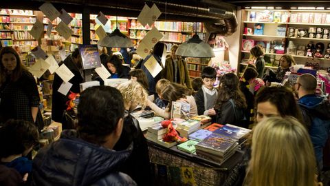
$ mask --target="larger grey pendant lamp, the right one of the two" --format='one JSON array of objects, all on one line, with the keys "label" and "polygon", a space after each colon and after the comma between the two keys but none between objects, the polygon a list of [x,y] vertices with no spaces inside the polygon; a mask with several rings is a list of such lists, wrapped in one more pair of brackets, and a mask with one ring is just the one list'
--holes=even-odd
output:
[{"label": "larger grey pendant lamp, the right one of the two", "polygon": [[[198,12],[198,7],[197,7]],[[197,17],[197,13],[196,13]],[[177,56],[210,58],[214,57],[214,52],[208,43],[202,41],[197,34],[197,23],[195,24],[195,35],[191,39],[185,41],[177,48],[175,52]]]}]

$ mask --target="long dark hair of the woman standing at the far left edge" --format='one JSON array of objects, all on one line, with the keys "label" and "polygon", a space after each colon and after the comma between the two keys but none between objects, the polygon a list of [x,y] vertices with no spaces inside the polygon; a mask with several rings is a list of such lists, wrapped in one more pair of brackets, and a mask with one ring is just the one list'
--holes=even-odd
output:
[{"label": "long dark hair of the woman standing at the far left edge", "polygon": [[19,54],[17,54],[16,50],[12,47],[4,47],[0,50],[0,85],[5,82],[6,76],[8,75],[8,70],[5,70],[3,66],[2,57],[3,54],[13,54],[16,58],[17,65],[16,68],[12,71],[10,75],[10,81],[17,81],[22,76],[23,70],[26,70],[24,65],[21,63],[21,59],[19,58]]}]

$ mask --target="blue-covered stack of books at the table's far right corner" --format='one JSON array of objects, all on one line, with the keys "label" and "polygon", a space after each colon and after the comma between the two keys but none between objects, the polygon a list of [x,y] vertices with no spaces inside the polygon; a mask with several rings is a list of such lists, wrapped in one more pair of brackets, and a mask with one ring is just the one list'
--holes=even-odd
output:
[{"label": "blue-covered stack of books at the table's far right corner", "polygon": [[241,149],[242,144],[247,140],[249,132],[251,132],[251,130],[230,124],[226,124],[218,130],[214,130],[214,133],[231,138],[239,143],[239,149]]}]

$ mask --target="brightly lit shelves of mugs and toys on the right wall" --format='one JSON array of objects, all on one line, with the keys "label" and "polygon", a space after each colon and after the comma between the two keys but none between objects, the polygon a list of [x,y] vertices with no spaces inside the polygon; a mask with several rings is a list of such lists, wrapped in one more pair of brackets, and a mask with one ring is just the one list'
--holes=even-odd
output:
[{"label": "brightly lit shelves of mugs and toys on the right wall", "polygon": [[[261,45],[269,63],[265,68],[277,68],[284,54],[291,54],[296,63],[309,64],[316,70],[327,70],[330,59],[325,58],[330,48],[330,10],[242,10],[241,62],[239,71],[250,58],[250,47]],[[262,25],[256,33],[256,26]],[[251,45],[252,44],[252,45]],[[307,45],[312,44],[312,56],[307,56]],[[283,52],[274,47],[283,46]],[[316,57],[316,45],[321,45],[321,56]],[[267,62],[267,61],[266,61]],[[240,70],[241,69],[241,70]]]}]

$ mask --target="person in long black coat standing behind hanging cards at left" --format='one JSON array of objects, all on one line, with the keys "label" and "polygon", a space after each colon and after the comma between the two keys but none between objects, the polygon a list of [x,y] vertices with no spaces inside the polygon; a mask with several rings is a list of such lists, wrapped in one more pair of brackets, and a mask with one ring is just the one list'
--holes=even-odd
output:
[{"label": "person in long black coat standing behind hanging cards at left", "polygon": [[[84,81],[83,68],[81,67],[81,58],[78,48],[76,48],[71,55],[67,56],[67,58],[58,65],[61,66],[62,64],[65,64],[67,68],[69,68],[69,70],[74,74],[74,77],[69,81],[69,83],[72,83],[72,87],[70,88],[69,92],[67,92],[67,95],[63,95],[58,92],[58,88],[61,87],[63,80],[60,76],[58,76],[58,74],[54,75],[52,94],[52,120],[59,123],[63,123],[63,113],[67,108],[65,103],[69,101],[67,96],[70,94],[70,92],[80,93],[80,83],[83,83]],[[67,129],[72,127],[63,123],[63,128]]]}]

